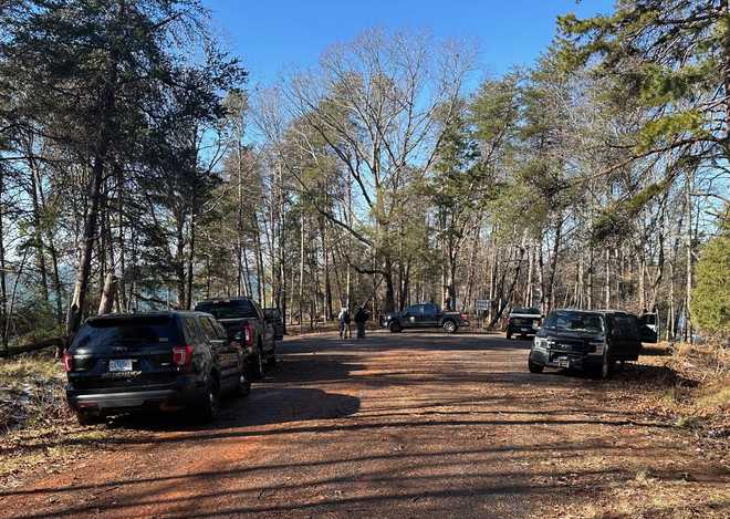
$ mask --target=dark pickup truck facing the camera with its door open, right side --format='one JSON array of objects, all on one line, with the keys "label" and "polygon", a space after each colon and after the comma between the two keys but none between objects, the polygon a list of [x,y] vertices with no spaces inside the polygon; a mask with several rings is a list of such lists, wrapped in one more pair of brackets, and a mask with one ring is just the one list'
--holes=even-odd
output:
[{"label": "dark pickup truck facing the camera with its door open, right side", "polygon": [[606,378],[617,361],[638,360],[642,342],[657,342],[645,321],[614,310],[555,310],[535,335],[528,367],[577,369]]}]

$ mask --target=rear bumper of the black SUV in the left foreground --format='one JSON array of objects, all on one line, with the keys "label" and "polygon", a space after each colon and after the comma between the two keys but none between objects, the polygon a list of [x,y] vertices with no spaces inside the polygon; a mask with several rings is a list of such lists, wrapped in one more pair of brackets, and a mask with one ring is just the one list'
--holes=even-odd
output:
[{"label": "rear bumper of the black SUV in the left foreground", "polygon": [[154,388],[74,390],[66,387],[66,402],[73,411],[112,413],[132,409],[177,411],[195,404],[201,395],[197,384]]}]

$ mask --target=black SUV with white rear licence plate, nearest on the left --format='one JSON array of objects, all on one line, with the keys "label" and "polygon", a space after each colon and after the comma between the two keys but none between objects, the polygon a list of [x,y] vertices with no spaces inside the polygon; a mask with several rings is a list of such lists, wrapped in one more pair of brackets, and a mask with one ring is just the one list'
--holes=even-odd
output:
[{"label": "black SUV with white rear licence plate, nearest on the left", "polygon": [[248,354],[205,313],[91,318],[63,355],[66,399],[82,425],[139,408],[188,408],[211,421],[221,394],[248,395]]}]

